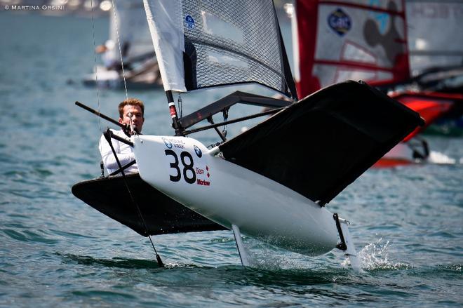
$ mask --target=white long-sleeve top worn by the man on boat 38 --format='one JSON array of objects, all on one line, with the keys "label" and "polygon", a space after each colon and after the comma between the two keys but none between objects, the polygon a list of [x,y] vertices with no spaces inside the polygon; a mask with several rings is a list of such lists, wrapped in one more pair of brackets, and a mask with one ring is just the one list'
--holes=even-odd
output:
[{"label": "white long-sleeve top worn by the man on boat 38", "polygon": [[[122,130],[112,129],[111,131],[112,133],[114,133],[114,135],[118,135],[119,137],[130,141],[130,138],[128,138],[128,136]],[[126,145],[125,143],[115,139],[111,139],[111,142],[112,146],[114,147],[114,151],[116,151],[117,158],[119,159],[121,166],[125,166],[127,163],[130,163],[130,161],[133,161],[135,159],[135,154],[133,154],[133,148],[130,147],[130,145]],[[102,135],[100,138],[100,145],[98,146],[98,148],[100,149],[101,158],[103,160],[103,164],[105,165],[107,173],[110,174],[119,169],[116,158],[114,157],[112,149],[109,146],[109,143],[107,142],[104,135]],[[138,173],[137,163],[134,163],[132,166],[124,170],[124,173]],[[119,173],[119,175],[121,175],[121,173]]]}]

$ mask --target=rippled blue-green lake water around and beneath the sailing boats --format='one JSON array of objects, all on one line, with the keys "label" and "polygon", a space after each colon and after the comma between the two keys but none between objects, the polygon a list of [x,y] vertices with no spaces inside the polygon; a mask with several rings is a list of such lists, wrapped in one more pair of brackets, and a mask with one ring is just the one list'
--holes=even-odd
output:
[{"label": "rippled blue-green lake water around and beneath the sailing boats", "polygon": [[[98,175],[107,126],[74,106],[98,107],[79,82],[94,62],[91,20],[0,12],[0,28],[1,307],[462,307],[461,138],[430,136],[434,163],[368,170],[328,205],[351,221],[363,274],[335,251],[309,258],[250,239],[257,268],[243,269],[231,232],[154,236],[160,269],[147,239],[70,192]],[[95,29],[104,41],[107,20]],[[145,133],[172,133],[162,91],[129,96],[147,103]],[[100,91],[101,111],[116,116],[124,97]]]}]

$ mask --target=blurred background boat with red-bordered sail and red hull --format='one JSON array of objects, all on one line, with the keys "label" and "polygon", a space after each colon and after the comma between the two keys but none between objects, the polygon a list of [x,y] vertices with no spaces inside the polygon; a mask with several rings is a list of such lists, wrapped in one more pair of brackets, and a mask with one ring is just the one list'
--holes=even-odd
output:
[{"label": "blurred background boat with red-bordered sail and red hull", "polygon": [[[372,2],[368,5],[361,1],[347,2],[295,2],[293,32],[296,34],[293,34],[293,52],[298,92],[307,95],[335,82],[363,79],[383,91],[396,91],[391,96],[421,112],[427,126],[438,120],[462,117],[463,93],[439,95],[436,93],[439,91],[437,88],[417,86],[412,81],[409,62],[416,63],[417,59],[415,54],[408,52],[408,28],[412,25],[406,8],[410,5],[405,1]],[[452,10],[443,7],[446,14],[463,8],[463,3],[451,6]],[[436,6],[431,4],[431,7]],[[429,11],[427,6],[422,9]],[[412,22],[417,23],[417,27],[424,24],[424,20],[419,18],[412,18]],[[443,27],[444,22],[440,25]],[[452,25],[455,22],[450,22]],[[420,30],[410,32],[413,43],[420,41],[420,38],[424,42],[428,37]],[[429,41],[432,42],[432,39]],[[432,44],[428,45],[431,48]],[[438,51],[429,53],[441,55]],[[457,61],[455,57],[440,58],[450,59],[448,63],[453,65]],[[407,90],[408,93],[404,93]],[[431,109],[434,112],[429,112]],[[417,129],[413,136],[424,128]],[[390,161],[426,161],[429,154],[426,141],[422,138],[412,140],[410,135],[403,140],[403,145],[384,156],[383,159],[389,162],[382,163],[382,166],[394,166]]]}]

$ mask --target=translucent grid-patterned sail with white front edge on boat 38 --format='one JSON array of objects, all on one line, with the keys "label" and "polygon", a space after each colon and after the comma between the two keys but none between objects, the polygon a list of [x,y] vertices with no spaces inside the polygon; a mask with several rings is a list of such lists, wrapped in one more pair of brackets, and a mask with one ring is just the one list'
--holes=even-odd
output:
[{"label": "translucent grid-patterned sail with white front edge on boat 38", "polygon": [[296,97],[271,0],[145,0],[145,9],[165,91],[255,82]]}]

